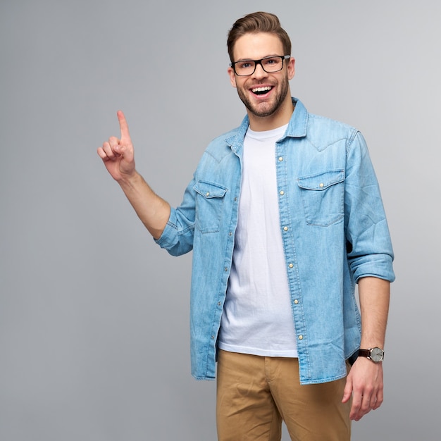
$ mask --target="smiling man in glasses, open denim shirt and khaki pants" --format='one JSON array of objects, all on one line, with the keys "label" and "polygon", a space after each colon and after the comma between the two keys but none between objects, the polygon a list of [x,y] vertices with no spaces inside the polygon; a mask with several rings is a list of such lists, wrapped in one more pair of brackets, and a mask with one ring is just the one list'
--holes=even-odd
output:
[{"label": "smiling man in glasses, open denim shirt and khaki pants", "polygon": [[275,15],[237,20],[228,52],[247,116],[211,142],[177,209],[135,170],[122,112],[98,154],[156,242],[193,249],[192,374],[215,378],[217,359],[219,440],[280,440],[282,420],[293,440],[349,440],[383,402],[395,277],[366,144],[292,99]]}]

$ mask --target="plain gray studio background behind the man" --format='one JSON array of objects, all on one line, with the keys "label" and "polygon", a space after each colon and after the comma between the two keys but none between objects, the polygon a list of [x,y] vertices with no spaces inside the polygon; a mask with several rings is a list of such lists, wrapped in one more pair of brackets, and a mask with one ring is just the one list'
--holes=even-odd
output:
[{"label": "plain gray studio background behind the man", "polygon": [[258,10],[292,37],[292,93],[366,137],[395,245],[385,403],[353,439],[440,440],[440,2],[1,0],[1,441],[216,439],[191,256],[154,244],[96,149],[122,108],[178,204],[244,116],[225,40]]}]

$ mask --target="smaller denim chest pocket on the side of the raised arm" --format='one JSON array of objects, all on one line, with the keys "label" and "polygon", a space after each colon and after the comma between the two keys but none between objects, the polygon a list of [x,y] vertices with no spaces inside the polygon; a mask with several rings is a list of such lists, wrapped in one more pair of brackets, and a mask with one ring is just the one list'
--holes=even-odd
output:
[{"label": "smaller denim chest pocket on the side of the raised arm", "polygon": [[218,232],[221,225],[223,201],[227,188],[199,180],[194,185],[196,195],[196,227],[200,232]]}]

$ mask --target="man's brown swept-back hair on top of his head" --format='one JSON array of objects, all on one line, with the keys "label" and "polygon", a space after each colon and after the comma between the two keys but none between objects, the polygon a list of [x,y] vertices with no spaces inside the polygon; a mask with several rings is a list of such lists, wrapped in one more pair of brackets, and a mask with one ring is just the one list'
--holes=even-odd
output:
[{"label": "man's brown swept-back hair on top of his head", "polygon": [[268,12],[254,12],[236,20],[228,32],[227,47],[231,63],[234,62],[233,50],[237,39],[242,35],[257,32],[275,33],[283,45],[284,54],[291,55],[291,40],[287,32],[280,25],[277,15]]}]

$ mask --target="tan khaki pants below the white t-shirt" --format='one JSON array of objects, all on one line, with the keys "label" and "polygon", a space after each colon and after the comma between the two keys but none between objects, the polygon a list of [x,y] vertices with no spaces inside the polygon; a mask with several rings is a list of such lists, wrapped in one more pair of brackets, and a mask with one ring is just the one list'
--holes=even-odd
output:
[{"label": "tan khaki pants below the white t-shirt", "polygon": [[218,352],[216,423],[219,441],[349,441],[346,379],[300,385],[297,359]]}]

